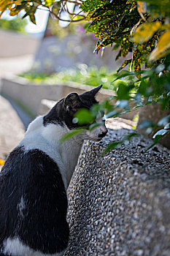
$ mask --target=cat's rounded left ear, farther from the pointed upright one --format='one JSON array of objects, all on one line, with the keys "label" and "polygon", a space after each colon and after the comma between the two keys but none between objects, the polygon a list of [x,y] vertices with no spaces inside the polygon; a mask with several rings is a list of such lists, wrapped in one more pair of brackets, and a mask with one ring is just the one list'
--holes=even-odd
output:
[{"label": "cat's rounded left ear, farther from the pointed upright one", "polygon": [[64,108],[68,109],[76,109],[81,105],[81,99],[77,93],[72,93],[66,96],[63,102]]}]

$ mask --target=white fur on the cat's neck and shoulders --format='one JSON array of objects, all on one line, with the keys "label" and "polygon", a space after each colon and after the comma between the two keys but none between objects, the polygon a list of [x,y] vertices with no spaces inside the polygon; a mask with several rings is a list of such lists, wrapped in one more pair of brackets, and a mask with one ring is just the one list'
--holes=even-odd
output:
[{"label": "white fur on the cat's neck and shoulders", "polygon": [[58,164],[66,188],[69,187],[83,143],[79,135],[61,143],[61,138],[67,132],[69,129],[65,125],[44,126],[43,117],[39,116],[29,125],[25,138],[20,143],[25,146],[26,150],[38,148],[48,154]]}]

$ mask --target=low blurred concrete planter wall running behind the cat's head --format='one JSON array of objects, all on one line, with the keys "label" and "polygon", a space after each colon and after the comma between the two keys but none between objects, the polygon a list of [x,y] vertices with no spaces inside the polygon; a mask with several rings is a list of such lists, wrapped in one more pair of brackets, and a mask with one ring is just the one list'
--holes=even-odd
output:
[{"label": "low blurred concrete planter wall running behind the cat's head", "polygon": [[[51,99],[58,101],[71,92],[82,94],[85,91],[93,89],[92,86],[81,86],[76,83],[69,85],[35,85],[24,83],[23,79],[18,80],[1,80],[1,94],[7,95],[15,101],[20,101],[26,105],[35,116],[39,115],[41,110],[42,99]],[[102,89],[98,93],[98,100],[104,100],[113,96],[113,91]]]}]

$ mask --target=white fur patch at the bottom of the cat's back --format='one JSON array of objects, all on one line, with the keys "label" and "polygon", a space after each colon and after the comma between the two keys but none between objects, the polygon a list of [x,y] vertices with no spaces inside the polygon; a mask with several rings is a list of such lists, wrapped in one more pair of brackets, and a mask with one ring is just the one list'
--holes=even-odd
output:
[{"label": "white fur patch at the bottom of the cat's back", "polygon": [[29,246],[24,245],[19,238],[7,238],[7,240],[4,241],[3,246],[4,255],[12,254],[12,256],[62,256],[64,253],[60,252],[53,255],[45,255],[42,252],[34,251],[34,249],[31,249]]}]

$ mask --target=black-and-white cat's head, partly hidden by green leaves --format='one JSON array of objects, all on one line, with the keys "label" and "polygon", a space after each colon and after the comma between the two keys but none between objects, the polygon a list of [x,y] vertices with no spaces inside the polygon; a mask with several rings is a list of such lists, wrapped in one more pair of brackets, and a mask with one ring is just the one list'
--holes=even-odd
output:
[{"label": "black-and-white cat's head, partly hidden by green leaves", "polygon": [[[101,85],[102,86],[102,85]],[[75,123],[73,121],[75,113],[82,108],[90,110],[90,108],[97,104],[96,94],[101,89],[101,86],[96,87],[84,94],[78,95],[77,93],[72,93],[66,96],[66,98],[61,99],[52,110],[44,117],[44,125],[47,124],[59,124],[61,126],[68,127],[69,129],[75,129],[77,127],[82,127],[82,125]],[[96,122],[101,122],[101,120],[96,120]],[[102,124],[90,132],[87,130],[85,132],[85,138],[90,140],[99,141],[107,134],[107,128],[105,124]]]}]

